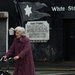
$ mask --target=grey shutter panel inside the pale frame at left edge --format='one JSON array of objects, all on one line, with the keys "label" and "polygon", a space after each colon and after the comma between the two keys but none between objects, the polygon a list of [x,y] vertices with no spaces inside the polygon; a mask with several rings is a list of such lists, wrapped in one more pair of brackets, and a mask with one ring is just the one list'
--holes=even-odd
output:
[{"label": "grey shutter panel inside the pale frame at left edge", "polygon": [[0,18],[0,56],[6,52],[6,19]]}]

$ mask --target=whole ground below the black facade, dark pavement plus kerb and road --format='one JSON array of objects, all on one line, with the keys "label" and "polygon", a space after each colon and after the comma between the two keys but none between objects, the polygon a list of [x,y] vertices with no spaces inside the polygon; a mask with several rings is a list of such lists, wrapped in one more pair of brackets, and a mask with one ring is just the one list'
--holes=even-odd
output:
[{"label": "whole ground below the black facade, dark pavement plus kerb and road", "polygon": [[[40,65],[36,67],[36,75],[75,75],[75,62],[49,63],[48,67],[45,65],[41,67]],[[13,75],[14,67],[9,69],[9,72]]]}]

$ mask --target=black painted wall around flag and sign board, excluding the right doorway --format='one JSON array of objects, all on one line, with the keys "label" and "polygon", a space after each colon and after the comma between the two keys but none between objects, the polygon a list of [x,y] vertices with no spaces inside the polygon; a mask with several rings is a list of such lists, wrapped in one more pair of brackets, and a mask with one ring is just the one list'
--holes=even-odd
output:
[{"label": "black painted wall around flag and sign board, excluding the right doorway", "polygon": [[[64,60],[63,51],[63,19],[64,18],[75,18],[71,12],[68,11],[68,6],[75,5],[74,0],[18,0],[19,2],[41,2],[47,4],[48,7],[42,8],[42,11],[49,13],[50,17],[43,17],[39,20],[47,20],[50,24],[50,40],[46,43],[31,43],[33,56],[35,61],[62,61]],[[12,0],[0,0],[1,11],[9,12],[9,28],[16,27],[19,25],[20,15],[16,12],[16,8]],[[4,5],[4,6],[3,6]],[[53,11],[51,7],[64,7]],[[68,15],[67,15],[68,14]],[[69,16],[69,14],[71,14]],[[26,24],[27,22],[25,22]],[[24,26],[24,25],[23,25]],[[12,43],[14,36],[9,36],[9,46]]]}]

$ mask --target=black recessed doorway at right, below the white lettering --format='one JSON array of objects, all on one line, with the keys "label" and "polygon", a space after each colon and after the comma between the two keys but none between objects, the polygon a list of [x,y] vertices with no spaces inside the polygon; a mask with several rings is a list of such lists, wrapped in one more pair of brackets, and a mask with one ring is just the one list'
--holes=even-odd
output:
[{"label": "black recessed doorway at right, below the white lettering", "polygon": [[64,59],[75,61],[75,19],[63,20]]}]

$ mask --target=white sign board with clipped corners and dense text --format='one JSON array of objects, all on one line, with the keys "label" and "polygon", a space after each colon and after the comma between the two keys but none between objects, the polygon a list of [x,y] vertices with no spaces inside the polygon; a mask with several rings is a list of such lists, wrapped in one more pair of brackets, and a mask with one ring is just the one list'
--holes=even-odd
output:
[{"label": "white sign board with clipped corners and dense text", "polygon": [[29,21],[25,26],[26,36],[30,40],[49,40],[49,23],[47,21]]}]

